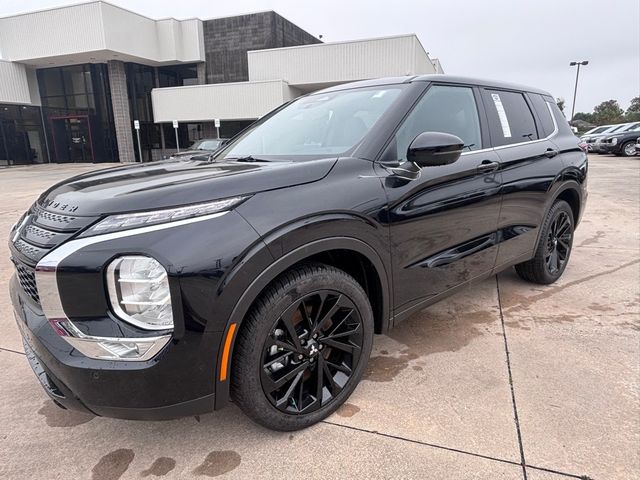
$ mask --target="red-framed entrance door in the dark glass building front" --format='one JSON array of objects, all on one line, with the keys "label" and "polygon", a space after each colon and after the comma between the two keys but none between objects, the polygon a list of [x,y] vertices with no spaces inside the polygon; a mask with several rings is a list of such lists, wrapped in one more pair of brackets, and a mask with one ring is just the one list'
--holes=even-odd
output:
[{"label": "red-framed entrance door in the dark glass building front", "polygon": [[58,163],[93,162],[89,117],[51,117],[55,159]]}]

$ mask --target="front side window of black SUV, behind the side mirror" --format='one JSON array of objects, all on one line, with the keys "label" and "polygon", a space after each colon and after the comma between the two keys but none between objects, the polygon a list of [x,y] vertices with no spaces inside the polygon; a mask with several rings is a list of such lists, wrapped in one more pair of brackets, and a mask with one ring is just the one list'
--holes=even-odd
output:
[{"label": "front side window of black SUV, behind the side mirror", "polygon": [[470,150],[482,148],[478,108],[469,87],[432,86],[396,132],[399,160],[409,144],[423,132],[457,135]]}]

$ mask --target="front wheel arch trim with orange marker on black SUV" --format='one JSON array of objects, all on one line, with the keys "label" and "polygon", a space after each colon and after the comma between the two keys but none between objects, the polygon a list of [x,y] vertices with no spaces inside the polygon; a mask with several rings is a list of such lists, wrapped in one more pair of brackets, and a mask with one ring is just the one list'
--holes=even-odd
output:
[{"label": "front wheel arch trim with orange marker on black SUV", "polygon": [[[222,336],[220,347],[218,349],[217,372],[215,378],[216,410],[223,408],[229,402],[229,369],[233,359],[235,339],[242,321],[247,315],[253,301],[269,283],[292,265],[312,255],[336,249],[353,250],[358,252],[367,257],[367,259],[374,265],[382,285],[383,318],[388,321],[390,318],[390,300],[387,271],[384,266],[384,262],[378,253],[367,243],[354,237],[328,237],[312,241],[286,253],[273,262],[253,280],[236,303],[229,319],[227,320],[225,333]],[[226,357],[224,361],[223,357]]]}]

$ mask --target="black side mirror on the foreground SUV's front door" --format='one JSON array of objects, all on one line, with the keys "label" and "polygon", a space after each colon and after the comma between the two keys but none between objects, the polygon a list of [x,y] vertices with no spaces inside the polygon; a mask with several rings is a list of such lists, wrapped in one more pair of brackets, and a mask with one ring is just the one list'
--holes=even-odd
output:
[{"label": "black side mirror on the foreground SUV's front door", "polygon": [[449,165],[460,158],[463,149],[464,142],[455,135],[423,132],[409,145],[407,160],[420,167]]}]

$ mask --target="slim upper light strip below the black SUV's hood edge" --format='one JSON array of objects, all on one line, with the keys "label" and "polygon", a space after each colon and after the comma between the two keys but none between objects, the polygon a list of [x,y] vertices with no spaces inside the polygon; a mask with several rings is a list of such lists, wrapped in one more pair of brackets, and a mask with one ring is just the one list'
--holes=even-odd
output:
[{"label": "slim upper light strip below the black SUV's hood edge", "polygon": [[247,196],[231,197],[215,202],[199,203],[186,207],[169,208],[167,210],[152,210],[150,212],[124,213],[112,215],[96,223],[89,228],[82,236],[99,235],[103,233],[128,230],[131,228],[147,227],[160,223],[186,220],[193,217],[205,215],[221,214],[245,201]]}]

